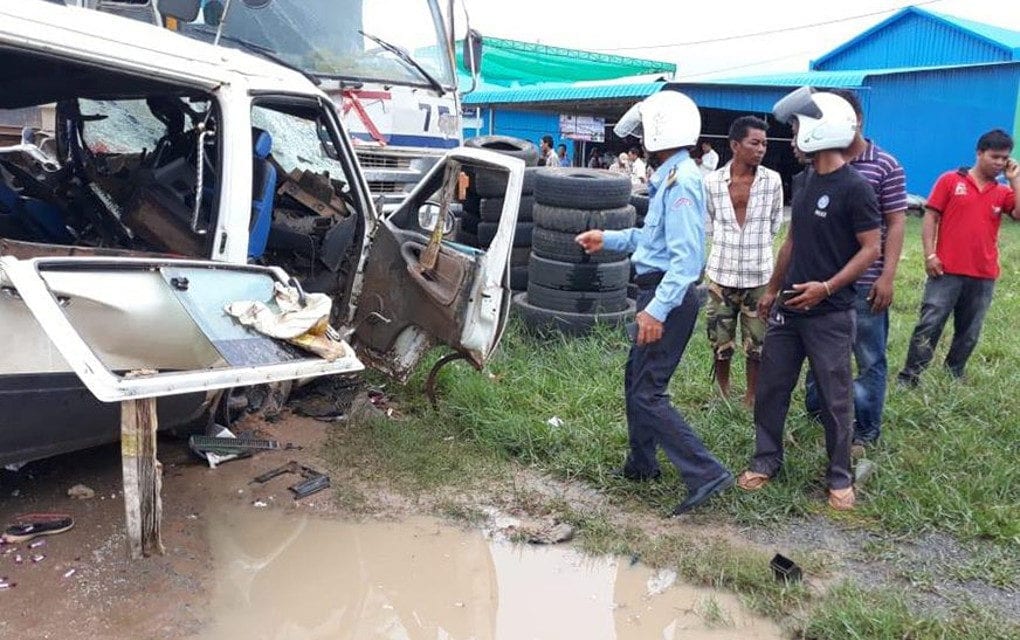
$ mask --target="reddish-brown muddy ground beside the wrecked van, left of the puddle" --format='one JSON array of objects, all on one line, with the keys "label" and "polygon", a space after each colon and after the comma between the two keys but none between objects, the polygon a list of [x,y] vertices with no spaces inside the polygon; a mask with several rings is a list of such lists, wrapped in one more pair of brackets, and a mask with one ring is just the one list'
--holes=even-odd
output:
[{"label": "reddish-brown muddy ground beside the wrecked van, left of the puddle", "polygon": [[[290,416],[261,431],[304,448],[262,452],[211,470],[185,441],[160,438],[166,554],[139,561],[128,559],[118,445],[41,460],[16,473],[0,471],[0,523],[29,512],[74,519],[70,531],[38,538],[45,540],[42,546],[20,543],[0,555],[0,578],[16,585],[0,590],[0,638],[141,640],[197,633],[212,587],[203,519],[213,509],[261,500],[271,508],[335,512],[329,491],[295,501],[287,489],[298,480],[293,475],[249,484],[292,459],[316,465],[311,452],[323,425]],[[95,497],[68,497],[78,484],[93,489]],[[45,557],[34,562],[32,556],[40,554]]]}]

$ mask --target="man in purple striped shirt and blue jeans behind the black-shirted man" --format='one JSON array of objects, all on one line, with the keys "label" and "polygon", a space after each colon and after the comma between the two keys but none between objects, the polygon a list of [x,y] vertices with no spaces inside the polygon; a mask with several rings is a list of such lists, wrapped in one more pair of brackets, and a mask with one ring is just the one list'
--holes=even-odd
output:
[{"label": "man in purple striped shirt and blue jeans behind the black-shirted man", "polygon": [[[857,338],[854,358],[857,378],[854,380],[854,444],[874,444],[881,435],[882,409],[885,406],[885,379],[888,365],[885,350],[888,343],[888,308],[892,304],[892,281],[903,250],[903,235],[907,211],[907,178],[900,162],[861,131],[864,116],[861,102],[850,91],[833,91],[854,107],[858,130],[845,157],[868,181],[878,198],[882,213],[882,253],[854,285],[857,294]],[[808,372],[805,404],[817,415],[821,400],[812,373]]]}]

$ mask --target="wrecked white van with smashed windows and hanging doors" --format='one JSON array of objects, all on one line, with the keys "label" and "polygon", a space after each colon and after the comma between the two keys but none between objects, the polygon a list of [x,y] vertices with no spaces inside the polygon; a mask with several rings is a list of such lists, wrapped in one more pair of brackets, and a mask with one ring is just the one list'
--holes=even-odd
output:
[{"label": "wrecked white van with smashed windows and hanging doors", "polygon": [[[299,72],[37,0],[0,5],[0,124],[27,112],[43,119],[0,145],[0,463],[115,440],[118,407],[94,392],[146,386],[178,427],[221,389],[363,365],[406,378],[435,344],[480,366],[499,342],[519,160],[451,151],[382,217],[333,103]],[[508,174],[484,252],[443,236],[464,165]],[[292,278],[333,298],[353,351],[259,378],[269,347],[230,329],[221,302]],[[124,376],[139,368],[162,375]]]}]

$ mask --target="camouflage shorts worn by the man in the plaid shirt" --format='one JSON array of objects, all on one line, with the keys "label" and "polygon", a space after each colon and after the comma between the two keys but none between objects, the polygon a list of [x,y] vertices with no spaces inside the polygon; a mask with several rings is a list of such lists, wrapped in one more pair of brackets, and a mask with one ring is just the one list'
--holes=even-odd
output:
[{"label": "camouflage shorts worn by the man in the plaid shirt", "polygon": [[765,287],[734,289],[709,281],[706,309],[708,341],[712,344],[715,359],[728,360],[733,357],[737,316],[741,322],[741,337],[744,338],[744,354],[752,360],[761,359],[765,323],[758,318],[758,301],[763,295]]}]

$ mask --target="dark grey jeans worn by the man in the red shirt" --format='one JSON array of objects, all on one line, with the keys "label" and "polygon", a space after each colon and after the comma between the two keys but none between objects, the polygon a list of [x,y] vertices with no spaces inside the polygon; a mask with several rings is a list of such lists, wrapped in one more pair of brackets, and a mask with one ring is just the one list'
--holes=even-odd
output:
[{"label": "dark grey jeans worn by the man in the red shirt", "polygon": [[946,355],[946,366],[953,376],[962,377],[967,359],[977,346],[994,289],[996,281],[982,278],[949,274],[928,278],[921,299],[921,317],[910,337],[907,363],[900,372],[900,381],[916,383],[931,363],[950,313],[953,313],[953,343]]}]

